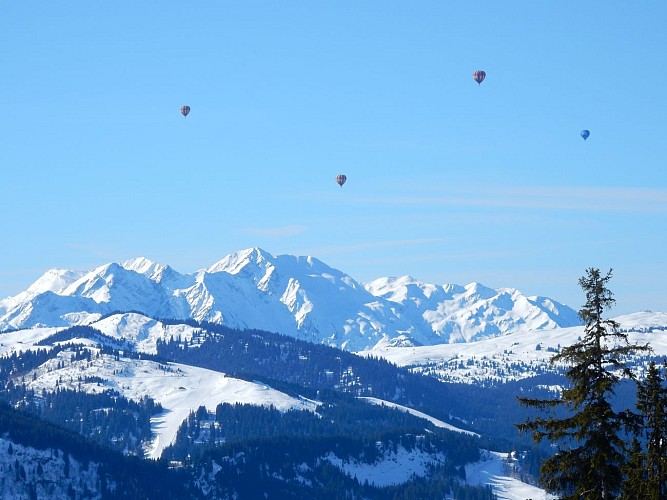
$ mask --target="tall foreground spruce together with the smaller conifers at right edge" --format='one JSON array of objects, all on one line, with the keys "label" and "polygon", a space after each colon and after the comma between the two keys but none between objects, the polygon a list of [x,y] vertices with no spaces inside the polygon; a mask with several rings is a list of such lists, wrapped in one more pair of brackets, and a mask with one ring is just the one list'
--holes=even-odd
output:
[{"label": "tall foreground spruce together with the smaller conifers at right edge", "polygon": [[[544,486],[564,500],[667,498],[667,389],[665,378],[652,362],[637,382],[634,410],[613,405],[623,380],[636,380],[626,360],[648,351],[630,344],[626,332],[603,313],[615,302],[603,275],[587,269],[579,284],[586,303],[579,311],[585,334],[565,347],[552,362],[567,365],[569,386],[551,399],[519,398],[541,416],[517,427],[534,440],[547,440],[556,453],[541,466]],[[558,411],[560,410],[560,412]],[[631,439],[631,442],[629,440]]]}]

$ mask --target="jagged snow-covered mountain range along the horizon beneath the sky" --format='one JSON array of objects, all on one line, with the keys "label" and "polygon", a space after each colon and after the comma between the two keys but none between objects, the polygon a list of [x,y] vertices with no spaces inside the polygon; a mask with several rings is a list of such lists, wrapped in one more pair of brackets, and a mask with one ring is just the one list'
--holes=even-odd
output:
[{"label": "jagged snow-covered mountain range along the horizon beneath the sky", "polygon": [[89,272],[50,270],[0,301],[0,330],[89,324],[116,311],[277,331],[355,351],[579,324],[570,307],[513,288],[408,276],[362,284],[313,257],[250,248],[191,274],[145,258]]}]

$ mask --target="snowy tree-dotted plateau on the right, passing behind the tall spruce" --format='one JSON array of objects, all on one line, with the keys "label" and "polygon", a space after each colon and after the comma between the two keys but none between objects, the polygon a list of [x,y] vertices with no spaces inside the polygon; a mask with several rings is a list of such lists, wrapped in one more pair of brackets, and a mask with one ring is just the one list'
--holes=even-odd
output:
[{"label": "snowy tree-dotted plateau on the right, passing behind the tall spruce", "polygon": [[[667,356],[667,313],[641,312],[615,318],[629,340],[649,344],[655,356]],[[452,382],[516,380],[553,371],[549,360],[574,344],[583,327],[518,332],[465,344],[378,347],[362,356],[380,356],[418,373]]]}]

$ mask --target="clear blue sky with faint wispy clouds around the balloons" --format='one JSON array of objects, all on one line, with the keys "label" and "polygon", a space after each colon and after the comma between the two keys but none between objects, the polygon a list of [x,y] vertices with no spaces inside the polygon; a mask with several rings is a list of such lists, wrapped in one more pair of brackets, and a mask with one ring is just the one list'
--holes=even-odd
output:
[{"label": "clear blue sky with faint wispy clouds around the balloons", "polygon": [[575,308],[612,267],[614,313],[665,311],[666,25],[662,0],[4,2],[0,296],[259,246]]}]

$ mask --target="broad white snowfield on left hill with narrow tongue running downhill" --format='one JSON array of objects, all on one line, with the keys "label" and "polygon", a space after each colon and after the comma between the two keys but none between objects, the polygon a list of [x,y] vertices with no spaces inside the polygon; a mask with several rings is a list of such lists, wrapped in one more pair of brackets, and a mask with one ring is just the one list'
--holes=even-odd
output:
[{"label": "broad white snowfield on left hill with narrow tongue running downhill", "polygon": [[[86,379],[86,377],[94,377]],[[98,380],[103,379],[100,383]],[[205,406],[215,411],[220,403],[273,405],[280,411],[292,408],[314,411],[317,404],[276,391],[265,384],[247,382],[225,374],[176,363],[115,358],[100,354],[90,361],[73,359],[73,353],[62,351],[38,369],[24,376],[26,385],[37,393],[42,390],[83,390],[99,393],[114,389],[128,399],[138,401],[151,397],[164,411],[151,419],[155,439],[146,455],[158,458],[171,444],[178,427],[191,411]]]}]

